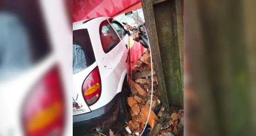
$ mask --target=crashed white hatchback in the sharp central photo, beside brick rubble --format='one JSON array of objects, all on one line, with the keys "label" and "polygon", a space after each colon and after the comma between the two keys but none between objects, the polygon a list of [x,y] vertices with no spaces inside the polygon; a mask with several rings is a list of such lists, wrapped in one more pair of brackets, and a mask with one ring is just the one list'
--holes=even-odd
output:
[{"label": "crashed white hatchback in the sharp central photo, beside brick rubble", "polygon": [[128,32],[110,17],[73,23],[73,135],[126,117]]}]

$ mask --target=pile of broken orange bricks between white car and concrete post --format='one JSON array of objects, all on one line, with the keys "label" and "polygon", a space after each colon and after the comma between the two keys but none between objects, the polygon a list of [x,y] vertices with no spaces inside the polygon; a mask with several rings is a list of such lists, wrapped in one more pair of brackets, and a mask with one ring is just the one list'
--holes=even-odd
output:
[{"label": "pile of broken orange bricks between white car and concrete post", "polygon": [[[132,69],[137,70],[138,72],[136,73],[151,69],[150,61],[150,50],[147,49],[139,60],[135,62],[136,67],[133,67]],[[148,71],[150,71],[151,75],[151,70]],[[148,74],[145,75],[148,76]],[[165,108],[162,107],[161,100],[159,98],[156,75],[153,75],[152,80],[153,99],[151,109],[151,77],[144,77],[142,75],[140,78],[129,81],[132,95],[127,98],[127,102],[131,107],[130,113],[132,119],[126,123],[127,126],[125,127],[128,132],[126,136],[140,135],[144,127],[146,127],[144,133],[147,133],[146,135],[148,136],[177,136],[179,132],[183,131],[183,109],[171,107],[165,110]],[[146,125],[146,120],[150,110],[151,113],[148,120],[149,125]]]}]

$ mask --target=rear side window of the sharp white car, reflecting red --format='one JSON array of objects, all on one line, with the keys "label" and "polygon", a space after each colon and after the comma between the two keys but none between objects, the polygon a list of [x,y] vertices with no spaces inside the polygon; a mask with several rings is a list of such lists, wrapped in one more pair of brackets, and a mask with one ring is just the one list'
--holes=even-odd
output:
[{"label": "rear side window of the sharp white car, reflecting red", "polygon": [[108,20],[104,20],[100,24],[100,40],[105,53],[111,51],[120,42],[118,35]]}]

